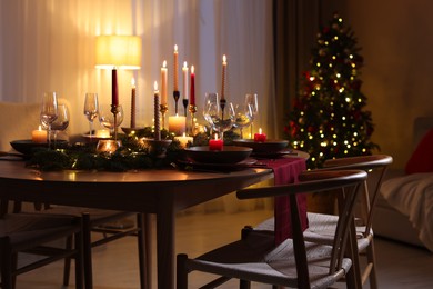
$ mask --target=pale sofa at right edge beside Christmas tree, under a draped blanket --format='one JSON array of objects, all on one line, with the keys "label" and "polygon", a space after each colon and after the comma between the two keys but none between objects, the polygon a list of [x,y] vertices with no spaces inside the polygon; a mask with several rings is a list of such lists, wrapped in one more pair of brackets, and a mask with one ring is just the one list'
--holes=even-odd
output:
[{"label": "pale sofa at right edge beside Christmas tree, under a draped blanket", "polygon": [[[409,190],[407,186],[402,186],[402,183],[406,183],[406,179],[414,180],[414,178],[417,178],[417,180],[420,180],[413,182],[412,188],[414,188],[420,186],[419,183],[423,182],[424,179],[433,176],[429,172],[433,171],[432,168],[429,168],[433,166],[433,161],[429,160],[429,153],[422,151],[426,150],[426,152],[429,152],[430,148],[433,149],[433,147],[430,147],[431,143],[427,143],[425,140],[429,132],[432,134],[432,128],[433,117],[420,117],[415,119],[413,124],[414,133],[412,157],[407,160],[405,168],[387,170],[382,183],[380,196],[377,197],[373,218],[373,228],[376,236],[414,246],[426,247],[430,251],[433,251],[433,247],[430,242],[431,238],[426,239],[425,236],[421,235],[420,226],[416,223],[413,216],[410,217],[410,213],[407,212],[411,208],[402,207],[397,201],[395,201],[395,196],[401,196],[401,198],[411,196],[409,192],[411,191],[412,193],[412,189]],[[432,152],[431,155],[433,156]],[[415,160],[415,158],[419,160]],[[424,162],[424,165],[416,163],[416,161],[420,161],[420,158],[422,158],[421,161]],[[417,173],[417,167],[421,170],[420,173]],[[393,195],[394,197],[391,197],[390,195],[391,189],[395,193]],[[421,198],[424,198],[424,196]],[[406,202],[411,202],[413,198],[411,197],[406,199]],[[414,209],[415,208],[412,208],[412,210]],[[422,237],[420,238],[420,236]]]}]

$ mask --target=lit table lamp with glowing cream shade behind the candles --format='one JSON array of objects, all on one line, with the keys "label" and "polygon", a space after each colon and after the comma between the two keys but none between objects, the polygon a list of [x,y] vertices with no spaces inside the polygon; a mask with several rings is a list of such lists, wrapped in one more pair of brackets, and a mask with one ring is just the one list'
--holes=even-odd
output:
[{"label": "lit table lamp with glowing cream shade behind the candles", "polygon": [[[111,69],[111,112],[114,116],[114,139],[117,140],[117,113],[119,112],[118,69],[141,68],[141,37],[99,36],[97,37],[97,63],[99,69]],[[134,101],[132,101],[134,103]],[[131,117],[135,108],[131,108]]]}]

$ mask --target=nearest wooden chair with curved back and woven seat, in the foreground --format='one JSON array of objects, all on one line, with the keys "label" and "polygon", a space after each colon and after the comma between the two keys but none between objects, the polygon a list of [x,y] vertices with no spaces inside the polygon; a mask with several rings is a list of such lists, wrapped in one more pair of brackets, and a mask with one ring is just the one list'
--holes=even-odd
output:
[{"label": "nearest wooden chair with curved back and woven seat, in the foreground", "polygon": [[[178,255],[178,289],[188,288],[188,275],[202,271],[220,276],[203,288],[214,288],[231,278],[241,280],[241,288],[250,282],[294,288],[328,288],[343,278],[352,261],[345,258],[349,228],[359,187],[366,179],[361,170],[311,172],[309,181],[299,183],[251,188],[238,191],[238,198],[252,199],[289,196],[293,239],[274,246],[274,238],[248,229],[241,240],[220,247],[198,258]],[[320,193],[331,189],[344,190],[334,241],[331,246],[306,242],[298,210],[298,193]],[[253,232],[253,233],[252,233]]]}]

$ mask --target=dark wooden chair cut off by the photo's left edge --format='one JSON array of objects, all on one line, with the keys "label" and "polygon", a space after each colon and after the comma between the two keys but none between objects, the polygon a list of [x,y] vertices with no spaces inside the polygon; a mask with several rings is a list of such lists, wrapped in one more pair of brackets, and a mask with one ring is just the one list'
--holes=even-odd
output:
[{"label": "dark wooden chair cut off by the photo's left edge", "polygon": [[[2,203],[7,202],[4,200]],[[83,288],[81,219],[58,215],[7,213],[2,205],[0,216],[0,288],[16,287],[18,275],[34,270],[51,262],[75,259],[75,287]],[[56,248],[48,242],[63,240],[74,236],[73,248]],[[36,261],[18,268],[18,253],[38,255]]]}]

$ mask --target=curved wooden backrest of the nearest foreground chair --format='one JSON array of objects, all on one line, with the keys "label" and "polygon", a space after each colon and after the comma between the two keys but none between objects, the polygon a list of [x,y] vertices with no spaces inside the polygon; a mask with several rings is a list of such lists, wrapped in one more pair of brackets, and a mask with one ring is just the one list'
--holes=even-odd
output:
[{"label": "curved wooden backrest of the nearest foreground chair", "polygon": [[238,191],[239,199],[289,196],[291,206],[292,238],[294,246],[298,285],[300,288],[310,288],[310,275],[305,242],[299,216],[296,201],[298,193],[320,193],[335,189],[344,189],[342,210],[339,212],[339,222],[335,230],[332,258],[330,262],[330,275],[340,270],[345,255],[345,247],[349,239],[349,226],[353,220],[354,203],[360,193],[360,186],[367,175],[363,170],[311,170],[300,175],[300,182],[272,186],[263,188],[251,188]]}]

